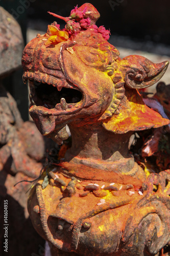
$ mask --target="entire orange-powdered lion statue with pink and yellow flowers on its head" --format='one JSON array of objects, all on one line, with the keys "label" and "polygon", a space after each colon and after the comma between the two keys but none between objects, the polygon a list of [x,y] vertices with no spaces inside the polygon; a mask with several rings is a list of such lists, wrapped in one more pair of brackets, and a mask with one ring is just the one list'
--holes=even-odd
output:
[{"label": "entire orange-powdered lion statue with pink and yellow flowers on its head", "polygon": [[157,82],[168,61],[120,59],[91,4],[66,18],[50,14],[65,29],[54,22],[29,42],[23,81],[41,134],[61,144],[68,124],[72,145],[31,191],[33,225],[52,255],[155,255],[170,241],[170,170],[148,176],[128,143],[134,131],[169,124],[137,91]]}]

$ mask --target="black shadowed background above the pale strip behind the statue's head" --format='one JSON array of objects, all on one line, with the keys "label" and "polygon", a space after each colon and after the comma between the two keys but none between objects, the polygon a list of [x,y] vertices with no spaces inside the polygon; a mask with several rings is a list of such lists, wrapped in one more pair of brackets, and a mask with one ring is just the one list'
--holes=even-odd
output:
[{"label": "black shadowed background above the pale strip behind the statue's head", "polygon": [[[47,13],[48,10],[68,16],[74,6],[77,4],[81,6],[85,2],[78,0],[1,0],[0,5],[17,17],[25,32],[28,20],[34,20],[34,27],[38,29],[39,20],[42,21],[42,26],[54,21],[55,18]],[[110,28],[111,34],[170,44],[170,2],[168,0],[91,0],[90,3],[101,14],[97,25]],[[23,12],[22,9],[25,11]]]}]

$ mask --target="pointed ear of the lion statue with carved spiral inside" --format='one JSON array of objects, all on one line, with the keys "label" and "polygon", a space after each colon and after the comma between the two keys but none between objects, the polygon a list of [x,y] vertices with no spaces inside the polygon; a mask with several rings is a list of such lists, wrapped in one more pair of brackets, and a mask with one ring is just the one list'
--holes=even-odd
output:
[{"label": "pointed ear of the lion statue with carved spiral inside", "polygon": [[140,89],[159,81],[168,64],[168,61],[155,64],[145,57],[130,55],[120,61],[120,71],[123,73],[126,86]]}]

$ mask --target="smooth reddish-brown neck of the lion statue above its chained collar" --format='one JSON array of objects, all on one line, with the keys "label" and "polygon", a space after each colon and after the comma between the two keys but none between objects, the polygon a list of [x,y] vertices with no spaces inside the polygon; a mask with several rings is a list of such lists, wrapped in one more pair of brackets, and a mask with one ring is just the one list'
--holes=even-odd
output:
[{"label": "smooth reddish-brown neck of the lion statue above its chained collar", "polygon": [[114,134],[104,127],[69,126],[72,145],[66,152],[65,161],[81,163],[89,167],[129,172],[134,159],[128,150],[131,133]]}]

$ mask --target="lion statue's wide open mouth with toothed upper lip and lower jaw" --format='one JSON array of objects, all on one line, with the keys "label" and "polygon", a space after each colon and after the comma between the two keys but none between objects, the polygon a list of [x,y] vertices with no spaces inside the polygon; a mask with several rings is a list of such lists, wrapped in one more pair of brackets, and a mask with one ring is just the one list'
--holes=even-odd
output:
[{"label": "lion statue's wide open mouth with toothed upper lip and lower jaw", "polygon": [[38,130],[61,144],[68,138],[65,125],[73,114],[79,113],[86,104],[86,94],[63,78],[41,72],[26,71],[23,82],[29,81],[30,109]]}]

